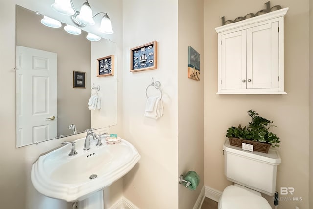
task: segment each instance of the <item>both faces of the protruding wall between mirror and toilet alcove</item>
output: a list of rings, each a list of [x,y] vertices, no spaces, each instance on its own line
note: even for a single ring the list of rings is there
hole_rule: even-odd
[[[145,1],[123,1],[124,137],[141,154],[124,178],[124,196],[142,209],[190,209],[204,184],[204,79],[187,78],[187,57],[188,46],[203,55],[203,1],[161,0],[149,6],[149,16],[138,18],[134,11],[146,11]],[[158,42],[157,70],[129,72],[129,49],[153,40]],[[157,121],[143,116],[152,77],[163,90],[165,114]],[[200,175],[196,191],[178,184],[179,175],[189,170]]]

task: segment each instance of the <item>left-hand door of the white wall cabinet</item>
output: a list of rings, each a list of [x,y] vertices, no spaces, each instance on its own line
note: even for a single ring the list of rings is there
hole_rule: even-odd
[[[246,89],[246,30],[221,35],[221,89]]]

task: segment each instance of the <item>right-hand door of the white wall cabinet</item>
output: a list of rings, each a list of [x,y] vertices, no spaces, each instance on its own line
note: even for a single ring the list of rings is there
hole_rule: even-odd
[[[279,88],[278,22],[247,29],[247,88]]]

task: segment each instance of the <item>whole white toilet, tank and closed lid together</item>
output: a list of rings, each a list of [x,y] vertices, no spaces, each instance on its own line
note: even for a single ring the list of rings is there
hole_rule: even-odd
[[[224,189],[218,209],[272,209],[261,193],[275,194],[277,165],[281,163],[278,152],[244,151],[231,146],[228,139],[223,149],[225,175],[234,185]]]

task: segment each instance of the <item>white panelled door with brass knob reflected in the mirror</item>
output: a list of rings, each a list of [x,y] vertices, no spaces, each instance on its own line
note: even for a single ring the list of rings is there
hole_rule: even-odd
[[[23,146],[57,136],[57,54],[17,46],[17,137]]]

